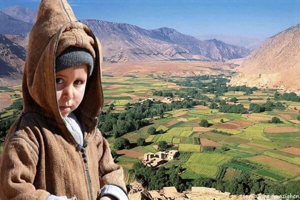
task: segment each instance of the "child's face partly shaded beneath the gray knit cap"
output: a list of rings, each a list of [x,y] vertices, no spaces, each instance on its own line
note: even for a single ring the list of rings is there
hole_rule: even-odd
[[[87,65],[66,68],[55,73],[56,96],[61,117],[78,107],[84,96]]]

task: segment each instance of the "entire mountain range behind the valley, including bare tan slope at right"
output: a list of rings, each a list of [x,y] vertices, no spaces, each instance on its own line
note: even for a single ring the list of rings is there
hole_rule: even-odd
[[[0,77],[21,76],[28,34],[35,16],[36,10],[21,6],[0,11]],[[200,40],[168,27],[147,30],[128,23],[95,19],[80,21],[100,39],[106,61],[233,61],[245,57],[243,61],[237,59],[241,62],[239,73],[230,84],[300,88],[299,24],[267,38],[251,52],[250,48],[218,39]],[[233,41],[226,38],[226,41]],[[247,43],[251,49],[257,45],[255,40],[238,42],[235,39],[234,43]]]

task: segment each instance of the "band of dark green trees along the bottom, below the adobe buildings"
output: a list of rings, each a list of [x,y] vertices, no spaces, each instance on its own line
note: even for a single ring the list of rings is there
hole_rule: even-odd
[[[227,191],[236,195],[251,193],[269,195],[298,194],[298,191],[300,191],[300,180],[289,181],[286,184],[273,184],[266,182],[263,178],[253,177],[245,171],[231,180],[208,177],[185,180],[178,175],[183,170],[181,166],[154,169],[143,165],[141,162],[136,162],[129,171],[134,172],[135,176],[141,179],[144,186],[149,190],[162,189],[165,186],[175,186],[178,191],[182,191],[190,189],[191,186],[204,186],[213,187],[217,190]]]

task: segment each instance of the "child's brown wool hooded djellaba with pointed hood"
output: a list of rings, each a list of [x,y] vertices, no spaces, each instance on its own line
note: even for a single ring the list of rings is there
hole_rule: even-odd
[[[68,46],[88,49],[94,70],[73,111],[83,129],[78,146],[59,114],[55,57]],[[0,199],[46,199],[50,194],[96,199],[105,184],[125,191],[123,170],[96,128],[103,105],[101,46],[76,21],[66,0],[41,0],[29,36],[22,82],[23,110],[5,138],[0,162]]]

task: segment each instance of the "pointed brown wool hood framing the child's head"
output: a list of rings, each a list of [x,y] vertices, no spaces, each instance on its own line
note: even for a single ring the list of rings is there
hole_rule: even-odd
[[[67,0],[40,2],[36,22],[29,35],[23,72],[23,112],[39,112],[63,124],[55,92],[55,58],[69,46],[85,48],[94,58],[94,70],[88,79],[83,100],[74,110],[88,132],[95,128],[103,106],[102,49],[91,30],[76,21]]]

